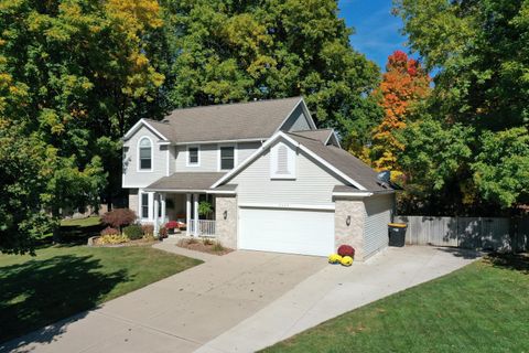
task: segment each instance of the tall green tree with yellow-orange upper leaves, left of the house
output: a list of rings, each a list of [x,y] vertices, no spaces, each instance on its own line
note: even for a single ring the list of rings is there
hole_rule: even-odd
[[[44,174],[32,210],[51,210],[56,221],[65,207],[98,204],[106,185],[107,196],[120,190],[119,138],[141,114],[158,111],[150,101],[163,75],[147,41],[162,24],[155,0],[0,0],[4,141],[12,133],[37,141],[43,153],[34,158],[53,167],[33,162],[35,175]],[[0,152],[12,161],[10,147]],[[0,169],[10,174],[19,162]],[[2,179],[2,189],[8,184]]]

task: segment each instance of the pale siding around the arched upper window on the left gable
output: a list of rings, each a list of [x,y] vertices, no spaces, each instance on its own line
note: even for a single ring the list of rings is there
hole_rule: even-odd
[[[152,141],[152,169],[142,171],[139,169],[139,141],[149,137]],[[168,173],[168,146],[158,143],[160,138],[149,128],[141,127],[123,143],[123,188],[145,188]]]

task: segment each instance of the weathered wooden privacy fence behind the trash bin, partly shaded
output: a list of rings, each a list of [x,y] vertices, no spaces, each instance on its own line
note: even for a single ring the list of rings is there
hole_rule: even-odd
[[[396,216],[408,224],[406,243],[467,249],[529,249],[529,218]]]

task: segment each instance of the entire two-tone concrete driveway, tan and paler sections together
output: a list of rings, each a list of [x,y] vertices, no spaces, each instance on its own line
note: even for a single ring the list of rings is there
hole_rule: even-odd
[[[349,268],[327,265],[321,257],[257,252],[203,258],[203,265],[9,342],[0,351],[253,352],[449,274],[476,255],[388,248]]]

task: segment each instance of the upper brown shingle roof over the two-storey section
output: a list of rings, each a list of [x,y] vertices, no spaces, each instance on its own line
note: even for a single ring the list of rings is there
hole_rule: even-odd
[[[149,120],[173,142],[223,141],[271,137],[301,97],[225,104],[173,110]]]

